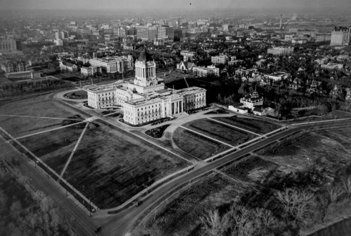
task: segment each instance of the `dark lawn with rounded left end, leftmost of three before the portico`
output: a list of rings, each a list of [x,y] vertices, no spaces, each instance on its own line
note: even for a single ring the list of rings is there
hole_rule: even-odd
[[[192,136],[193,135],[193,136]],[[201,137],[198,134],[192,134],[190,131],[178,128],[173,133],[173,141],[176,143],[178,148],[189,153],[196,158],[205,160],[206,158],[224,151],[225,148],[229,148],[224,144],[220,144],[206,137]]]

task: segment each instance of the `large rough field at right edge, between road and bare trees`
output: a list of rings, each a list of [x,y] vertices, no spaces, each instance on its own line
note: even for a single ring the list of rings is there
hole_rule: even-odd
[[[351,164],[351,128],[302,132],[258,154],[288,167],[318,165],[329,174]]]

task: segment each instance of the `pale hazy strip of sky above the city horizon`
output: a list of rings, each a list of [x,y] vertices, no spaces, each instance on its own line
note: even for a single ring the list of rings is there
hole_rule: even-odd
[[[350,8],[351,0],[0,0],[0,9]]]

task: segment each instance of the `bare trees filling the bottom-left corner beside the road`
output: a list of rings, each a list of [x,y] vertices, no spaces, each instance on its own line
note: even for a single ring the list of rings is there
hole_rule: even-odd
[[[69,235],[74,218],[18,170],[11,176],[0,162],[0,235]]]

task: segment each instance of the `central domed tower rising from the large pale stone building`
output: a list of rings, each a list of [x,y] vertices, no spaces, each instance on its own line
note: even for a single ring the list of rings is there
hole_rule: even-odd
[[[150,53],[147,53],[146,48],[140,53],[140,56],[135,61],[135,79],[134,84],[149,87],[157,85],[156,78],[156,63],[152,59]]]

